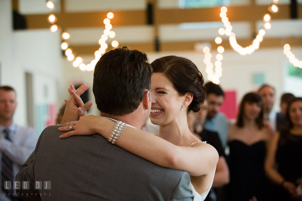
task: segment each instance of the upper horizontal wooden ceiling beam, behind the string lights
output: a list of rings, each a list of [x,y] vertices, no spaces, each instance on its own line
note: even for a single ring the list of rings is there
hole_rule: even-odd
[[[273,20],[290,19],[290,5],[278,5],[279,12],[271,14]],[[57,13],[58,25],[61,28],[103,27],[103,20],[109,11]],[[114,18],[113,26],[146,25],[147,14],[145,10],[111,11]],[[228,7],[227,17],[229,21],[257,21],[262,20],[268,13],[267,5],[249,5]],[[180,24],[185,22],[211,22],[221,21],[220,7],[193,8],[193,9],[157,9],[155,21],[161,24]],[[28,29],[49,28],[48,14],[25,15]],[[302,18],[302,4],[298,4],[298,18]]]

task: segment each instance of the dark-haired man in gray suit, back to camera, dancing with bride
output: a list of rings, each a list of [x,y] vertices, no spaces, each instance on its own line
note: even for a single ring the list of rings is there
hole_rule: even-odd
[[[145,53],[125,47],[105,53],[93,78],[101,115],[141,129],[150,114],[151,74]],[[60,139],[58,128],[42,132],[16,176],[21,185],[29,181],[28,190],[17,190],[23,200],[193,200],[187,172],[155,165],[99,134]]]

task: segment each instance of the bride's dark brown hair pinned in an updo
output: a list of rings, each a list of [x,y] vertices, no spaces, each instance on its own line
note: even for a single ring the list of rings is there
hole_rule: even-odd
[[[180,96],[187,92],[193,94],[188,112],[198,112],[204,103],[204,78],[196,65],[189,59],[177,56],[166,56],[151,63],[153,73],[163,73],[174,85]]]

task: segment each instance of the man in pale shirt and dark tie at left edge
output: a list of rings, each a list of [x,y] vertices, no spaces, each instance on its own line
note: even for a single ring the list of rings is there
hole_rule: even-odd
[[[38,134],[33,128],[13,123],[16,107],[15,90],[9,86],[0,87],[0,200],[18,199],[15,190],[3,189],[4,181],[15,181],[20,166],[35,150],[38,141]]]

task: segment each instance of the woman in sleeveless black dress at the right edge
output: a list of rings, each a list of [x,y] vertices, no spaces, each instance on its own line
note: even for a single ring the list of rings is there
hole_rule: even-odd
[[[302,180],[302,98],[294,98],[288,104],[285,126],[270,143],[265,170],[276,185],[272,200],[301,200],[297,186]]]

